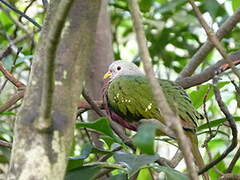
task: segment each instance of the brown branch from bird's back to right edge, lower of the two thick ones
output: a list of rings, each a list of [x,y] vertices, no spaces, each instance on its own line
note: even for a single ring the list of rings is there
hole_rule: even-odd
[[[235,65],[238,65],[240,63],[240,51],[229,54],[229,57]],[[229,69],[228,64],[226,64],[226,62],[221,59],[216,64],[209,66],[199,74],[193,75],[191,77],[178,78],[176,80],[176,83],[185,89],[190,88],[212,79],[216,75],[216,72],[220,74],[227,69]]]

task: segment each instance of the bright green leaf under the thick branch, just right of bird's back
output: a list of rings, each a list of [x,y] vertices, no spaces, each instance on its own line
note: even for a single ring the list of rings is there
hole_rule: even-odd
[[[224,81],[224,82],[220,82],[217,84],[217,87],[219,89],[221,89],[222,87],[224,87],[226,84],[229,84],[228,81]],[[199,88],[195,91],[192,91],[189,94],[189,97],[192,100],[192,103],[194,105],[194,107],[199,108],[202,104],[203,104],[203,99],[204,96],[206,95],[208,88],[211,86],[211,84],[204,84],[204,85],[200,85],[198,86]],[[208,96],[206,101],[208,101],[209,99],[211,99],[211,97],[214,95],[213,89],[211,88],[208,92]]]

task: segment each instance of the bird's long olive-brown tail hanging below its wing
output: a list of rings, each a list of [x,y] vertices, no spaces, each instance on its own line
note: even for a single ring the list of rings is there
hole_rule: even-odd
[[[193,153],[195,163],[196,163],[196,165],[198,166],[199,169],[202,169],[204,167],[204,161],[203,161],[202,155],[201,155],[201,153],[198,149],[197,135],[192,131],[185,131],[185,134],[190,139],[191,150],[192,150],[192,153]],[[203,173],[203,178],[205,180],[209,180],[209,176],[208,176],[207,172]]]

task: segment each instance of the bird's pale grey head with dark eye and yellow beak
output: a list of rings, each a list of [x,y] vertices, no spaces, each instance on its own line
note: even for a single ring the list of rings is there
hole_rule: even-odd
[[[144,75],[140,69],[132,62],[125,60],[114,61],[110,64],[108,72],[104,75],[104,79],[109,78],[110,81],[119,76],[124,75]]]

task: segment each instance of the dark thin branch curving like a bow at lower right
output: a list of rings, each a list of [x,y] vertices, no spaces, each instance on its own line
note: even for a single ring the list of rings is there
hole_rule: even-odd
[[[237,127],[236,127],[236,124],[235,124],[235,121],[234,121],[232,115],[228,111],[227,106],[222,101],[222,97],[220,95],[219,89],[216,87],[216,83],[217,83],[217,78],[214,78],[213,79],[213,88],[214,88],[215,98],[216,98],[216,101],[218,103],[219,108],[221,109],[221,111],[223,112],[227,121],[230,124],[231,130],[232,130],[232,141],[231,141],[230,146],[222,153],[221,156],[219,156],[217,159],[213,160],[211,163],[209,163],[204,168],[202,168],[198,172],[198,174],[202,174],[202,173],[206,172],[208,169],[212,168],[214,165],[219,163],[237,146],[237,134],[238,134],[237,133]]]

